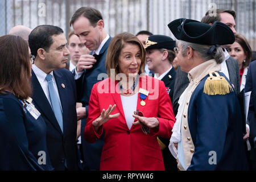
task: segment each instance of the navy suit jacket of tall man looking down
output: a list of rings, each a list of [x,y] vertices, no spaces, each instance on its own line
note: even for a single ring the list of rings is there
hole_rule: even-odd
[[[111,37],[107,40],[104,46],[101,48],[99,55],[94,55],[97,62],[93,65],[91,69],[84,71],[83,75],[76,80],[77,86],[77,97],[78,101],[81,102],[83,107],[86,107],[86,117],[88,116],[88,105],[90,100],[90,93],[92,91],[93,85],[96,84],[98,75],[101,73],[106,73],[106,53],[108,52],[108,47],[111,41]],[[92,55],[93,51],[90,52]],[[84,128],[86,125],[86,118],[82,119],[81,122],[81,134],[84,133]],[[82,167],[85,170],[99,170],[100,169],[100,158],[101,151],[104,144],[103,140],[104,135],[96,143],[88,143],[83,137],[81,137],[81,146],[82,146]]]

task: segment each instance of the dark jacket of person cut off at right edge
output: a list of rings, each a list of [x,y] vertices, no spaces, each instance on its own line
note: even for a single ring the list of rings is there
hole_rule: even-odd
[[[251,62],[246,76],[245,92],[251,91],[247,123],[250,126],[250,159],[256,162],[256,61]]]

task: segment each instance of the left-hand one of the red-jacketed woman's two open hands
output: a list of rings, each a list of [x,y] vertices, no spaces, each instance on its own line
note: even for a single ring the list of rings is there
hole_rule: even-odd
[[[119,113],[110,115],[113,112],[113,110],[115,109],[115,107],[116,107],[115,104],[113,106],[109,105],[109,108],[106,111],[105,111],[105,109],[103,109],[101,112],[101,115],[92,122],[96,133],[98,133],[98,129],[101,127],[101,125],[103,125],[105,122],[109,121],[109,119],[115,119],[115,118],[119,117],[119,115],[120,115]]]

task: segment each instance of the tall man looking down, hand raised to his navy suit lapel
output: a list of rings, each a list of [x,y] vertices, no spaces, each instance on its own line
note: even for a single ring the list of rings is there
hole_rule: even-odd
[[[104,20],[100,11],[81,7],[73,15],[70,25],[79,36],[82,44],[90,51],[90,55],[81,55],[75,69],[78,102],[85,107],[86,117],[90,93],[93,85],[101,81],[101,73],[106,73],[106,53],[110,43],[110,36],[104,31]],[[81,134],[84,133],[86,118],[82,119]],[[99,170],[101,151],[104,144],[103,135],[96,143],[88,143],[81,138],[82,160],[85,170]]]

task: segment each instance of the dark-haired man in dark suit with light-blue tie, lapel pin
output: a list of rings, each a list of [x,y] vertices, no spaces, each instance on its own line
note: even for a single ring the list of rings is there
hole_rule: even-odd
[[[32,66],[32,98],[47,125],[47,148],[55,170],[78,170],[76,85],[65,68],[69,51],[61,28],[38,26],[28,39]]]

